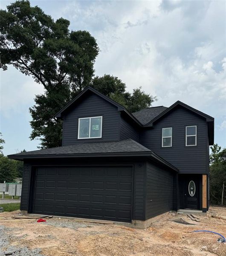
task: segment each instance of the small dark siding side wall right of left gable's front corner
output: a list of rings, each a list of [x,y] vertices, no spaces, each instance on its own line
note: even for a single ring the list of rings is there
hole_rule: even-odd
[[[138,131],[123,116],[120,119],[120,140],[133,139],[138,141]]]

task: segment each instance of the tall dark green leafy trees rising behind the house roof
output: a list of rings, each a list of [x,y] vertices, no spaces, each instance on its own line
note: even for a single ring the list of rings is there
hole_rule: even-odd
[[[30,138],[40,139],[41,148],[61,146],[62,121],[55,119],[55,113],[87,85],[131,112],[147,108],[156,100],[140,87],[128,93],[117,77],[92,79],[99,52],[96,40],[87,31],[69,31],[68,20],[54,21],[38,6],[30,6],[28,0],[12,3],[7,11],[0,10],[0,16],[0,67],[7,70],[13,65],[45,88],[29,109]]]

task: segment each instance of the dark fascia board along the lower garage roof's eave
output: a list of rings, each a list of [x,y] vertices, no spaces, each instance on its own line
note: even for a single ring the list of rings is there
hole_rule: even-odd
[[[26,160],[26,159],[46,159],[46,158],[84,158],[84,157],[148,157],[157,162],[162,163],[163,165],[169,167],[170,169],[178,172],[179,170],[164,160],[162,157],[159,157],[153,151],[143,151],[143,152],[115,152],[115,153],[94,153],[94,154],[43,154],[43,155],[18,155],[18,154],[11,154],[8,155],[10,159],[14,160]]]

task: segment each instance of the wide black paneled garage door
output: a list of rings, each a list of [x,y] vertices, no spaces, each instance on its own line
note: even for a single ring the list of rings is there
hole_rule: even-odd
[[[131,221],[132,167],[39,167],[32,212]]]

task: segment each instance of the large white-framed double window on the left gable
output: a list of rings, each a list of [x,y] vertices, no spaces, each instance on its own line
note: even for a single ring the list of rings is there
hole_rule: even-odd
[[[78,139],[102,137],[102,116],[78,118]]]

